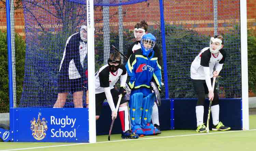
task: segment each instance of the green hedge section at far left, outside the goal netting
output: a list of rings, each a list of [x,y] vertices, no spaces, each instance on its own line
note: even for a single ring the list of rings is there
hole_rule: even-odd
[[[0,31],[0,113],[9,112],[8,51],[6,37],[6,32]],[[23,89],[25,49],[25,41],[21,36],[15,34],[17,104],[19,103]]]

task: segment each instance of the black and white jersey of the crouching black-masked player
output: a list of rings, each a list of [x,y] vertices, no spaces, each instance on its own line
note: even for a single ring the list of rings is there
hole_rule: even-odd
[[[125,84],[127,79],[127,71],[123,65],[121,65],[114,73],[110,72],[109,65],[102,66],[95,73],[95,94],[104,92],[104,87],[110,87],[110,89],[113,89],[118,79],[122,79],[121,77],[123,75],[126,75],[126,78],[124,81],[121,81],[121,83]]]

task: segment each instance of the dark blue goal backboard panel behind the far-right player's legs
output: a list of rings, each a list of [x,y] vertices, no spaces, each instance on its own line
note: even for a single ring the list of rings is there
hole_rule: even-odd
[[[174,119],[176,130],[195,130],[196,129],[196,104],[197,99],[174,99]],[[204,103],[204,118],[207,121],[209,100]],[[241,130],[241,98],[219,99],[219,121],[231,130]],[[210,118],[210,130],[212,128],[212,115]]]

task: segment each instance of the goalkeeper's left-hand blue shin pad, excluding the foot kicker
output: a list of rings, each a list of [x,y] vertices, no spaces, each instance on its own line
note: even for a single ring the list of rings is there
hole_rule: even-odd
[[[131,127],[141,124],[142,103],[143,93],[134,93],[133,95],[131,95],[129,101]]]

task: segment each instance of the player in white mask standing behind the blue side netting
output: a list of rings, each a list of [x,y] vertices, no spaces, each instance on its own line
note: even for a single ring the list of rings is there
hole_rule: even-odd
[[[74,107],[83,107],[84,59],[87,54],[87,27],[71,35],[63,52],[58,75],[59,93],[54,107],[63,107],[68,93],[73,94]]]

